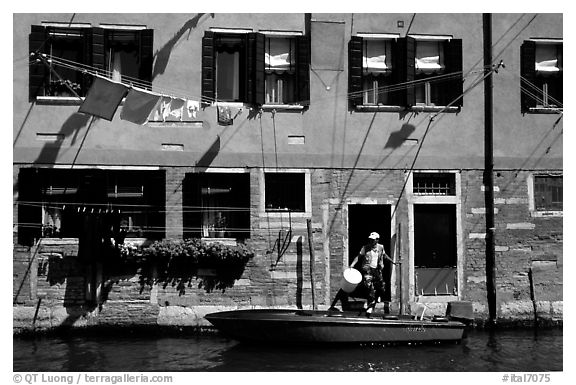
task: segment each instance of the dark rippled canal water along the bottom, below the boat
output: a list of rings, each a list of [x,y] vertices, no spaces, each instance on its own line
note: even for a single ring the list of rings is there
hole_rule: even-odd
[[[547,372],[562,371],[562,329],[472,330],[459,344],[346,347],[245,345],[199,336],[13,339],[16,372]]]

